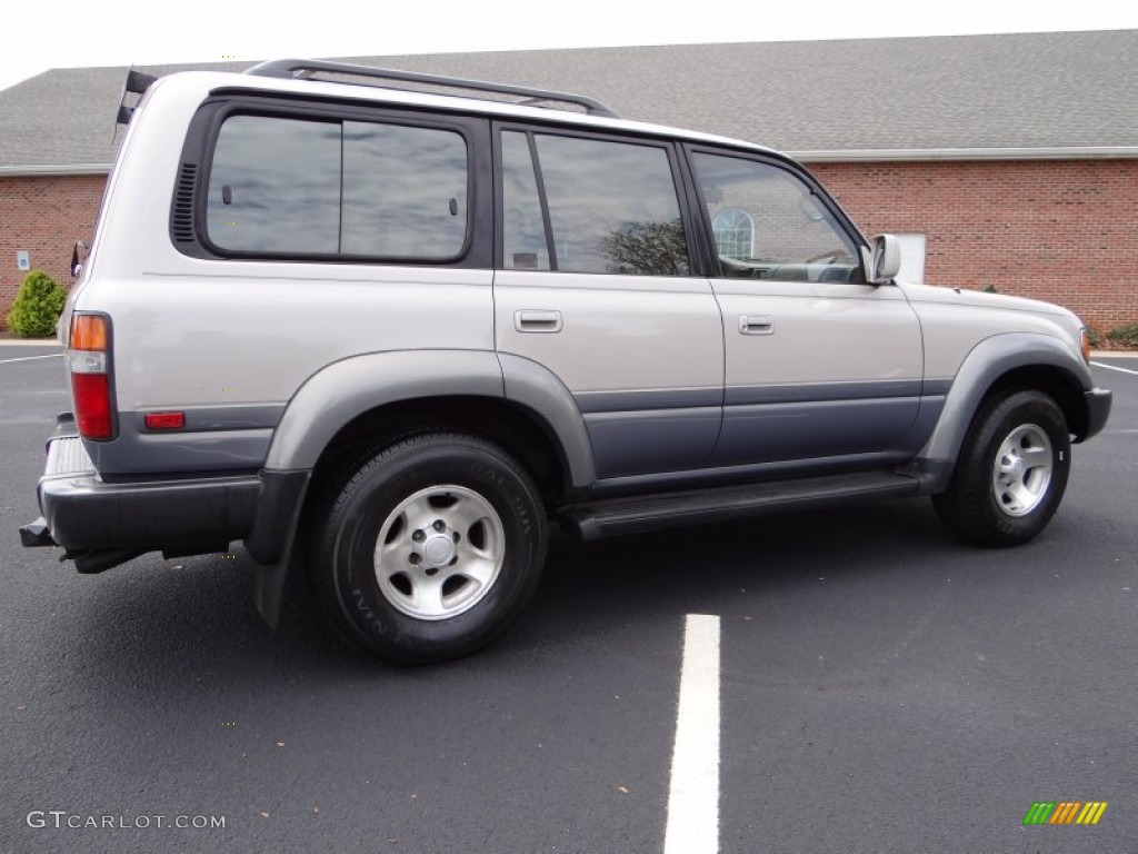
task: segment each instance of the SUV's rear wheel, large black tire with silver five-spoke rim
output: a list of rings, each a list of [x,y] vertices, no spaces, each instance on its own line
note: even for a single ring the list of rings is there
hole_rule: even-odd
[[[473,652],[537,588],[545,558],[537,490],[485,440],[402,438],[325,503],[310,559],[321,605],[346,639],[384,660],[430,664]]]

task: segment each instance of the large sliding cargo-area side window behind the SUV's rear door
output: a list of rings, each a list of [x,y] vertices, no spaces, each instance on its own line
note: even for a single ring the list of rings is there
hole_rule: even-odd
[[[453,130],[232,115],[206,232],[222,254],[450,261],[468,241],[469,183]]]

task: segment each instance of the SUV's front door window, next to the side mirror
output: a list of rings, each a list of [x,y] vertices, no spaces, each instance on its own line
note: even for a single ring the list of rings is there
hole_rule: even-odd
[[[782,281],[861,281],[858,253],[810,187],[780,166],[696,153],[719,274]]]

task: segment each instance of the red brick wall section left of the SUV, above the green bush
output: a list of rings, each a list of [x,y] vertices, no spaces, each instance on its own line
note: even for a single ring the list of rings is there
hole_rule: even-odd
[[[90,243],[102,200],[105,175],[0,178],[0,322],[26,273],[16,253],[26,249],[33,270],[71,286],[71,253]]]

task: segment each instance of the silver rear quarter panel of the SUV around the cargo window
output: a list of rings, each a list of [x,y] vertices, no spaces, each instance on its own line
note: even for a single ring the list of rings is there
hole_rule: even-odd
[[[308,377],[352,355],[494,350],[488,270],[181,254],[170,237],[179,153],[212,80],[175,75],[152,88],[124,140],[90,265],[72,303],[75,310],[105,312],[113,323],[121,430],[115,442],[89,443],[100,471],[130,469],[132,454],[124,443],[154,442],[130,429],[146,411],[200,408],[216,414],[253,408],[263,413],[283,408]],[[184,457],[173,469],[257,462],[248,442],[228,458],[224,442],[213,442],[216,453],[209,450],[209,437],[200,437],[200,453],[191,459],[185,451],[193,438],[181,434],[171,442],[165,455]],[[267,450],[267,436],[254,445]],[[162,470],[163,457],[133,454],[133,470]]]

